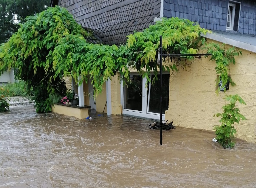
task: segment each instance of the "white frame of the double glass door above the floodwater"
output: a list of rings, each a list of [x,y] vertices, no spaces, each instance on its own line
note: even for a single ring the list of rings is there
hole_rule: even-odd
[[[130,72],[130,74],[138,75],[138,73],[136,72]],[[170,74],[170,72],[163,72],[163,74]],[[150,80],[151,78],[152,78],[152,74],[150,75]],[[138,111],[138,110],[130,110],[130,109],[124,108],[124,86],[123,86],[123,81],[121,81],[121,104],[122,104],[123,114],[130,115],[130,116],[150,118],[150,119],[160,118],[160,113],[148,112],[151,82],[148,83],[150,84],[148,91],[146,87],[146,82],[147,82],[147,78],[142,78],[142,111]],[[147,92],[148,92],[148,99],[147,99]],[[165,114],[162,114],[162,120],[165,120]]]

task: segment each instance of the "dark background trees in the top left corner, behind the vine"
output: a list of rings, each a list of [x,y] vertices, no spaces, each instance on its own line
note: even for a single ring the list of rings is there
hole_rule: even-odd
[[[15,33],[19,23],[27,16],[46,9],[50,0],[0,0],[0,44],[6,42]]]

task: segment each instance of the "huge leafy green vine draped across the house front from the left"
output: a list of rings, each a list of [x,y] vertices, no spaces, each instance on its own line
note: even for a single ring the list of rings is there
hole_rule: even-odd
[[[200,33],[209,32],[197,23],[179,18],[162,18],[143,32],[128,36],[126,45],[90,44],[92,32],[76,23],[68,11],[59,6],[27,17],[25,23],[7,43],[0,46],[0,74],[11,68],[17,78],[33,88],[37,112],[51,112],[54,101],[65,96],[63,76],[72,76],[78,84],[92,79],[94,95],[101,92],[106,80],[119,72],[129,82],[128,65],[153,83],[159,65],[159,37],[163,37],[163,52],[169,54],[197,53],[205,43]],[[163,70],[178,71],[193,56],[176,58],[174,64],[165,64]],[[172,60],[172,59],[171,59]],[[135,63],[134,63],[135,62]],[[224,79],[224,77],[223,77]]]

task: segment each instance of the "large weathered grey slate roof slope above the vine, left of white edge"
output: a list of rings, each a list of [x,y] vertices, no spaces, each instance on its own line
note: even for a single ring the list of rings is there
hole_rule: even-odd
[[[126,43],[127,35],[160,17],[160,0],[61,0],[59,5],[109,45]]]

